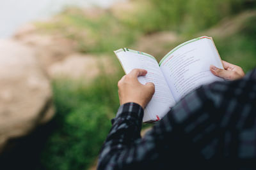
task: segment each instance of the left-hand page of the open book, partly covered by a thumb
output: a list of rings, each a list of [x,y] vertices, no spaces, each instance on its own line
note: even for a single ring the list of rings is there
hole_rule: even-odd
[[[175,104],[175,100],[163,73],[161,73],[157,60],[147,53],[136,52],[127,48],[124,50],[117,50],[115,53],[125,73],[128,74],[136,68],[146,69],[148,71],[147,75],[138,77],[138,80],[142,84],[152,82],[155,85],[155,93],[145,108],[143,122],[161,119]]]

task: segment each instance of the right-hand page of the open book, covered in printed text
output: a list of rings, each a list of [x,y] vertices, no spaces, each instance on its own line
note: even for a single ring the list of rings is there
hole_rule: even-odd
[[[223,69],[212,39],[206,36],[177,46],[159,63],[175,101],[200,85],[222,80],[211,73],[211,64]]]

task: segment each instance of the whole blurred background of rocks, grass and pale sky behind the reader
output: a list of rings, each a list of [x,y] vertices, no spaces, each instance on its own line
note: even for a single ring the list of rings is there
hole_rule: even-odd
[[[255,0],[0,4],[1,169],[95,169],[124,74],[113,50],[161,60],[212,36],[223,60],[256,66]]]

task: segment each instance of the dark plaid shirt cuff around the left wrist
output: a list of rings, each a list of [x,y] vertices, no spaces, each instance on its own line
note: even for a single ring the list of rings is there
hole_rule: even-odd
[[[144,115],[144,110],[140,106],[140,104],[137,103],[125,103],[118,109],[116,113],[116,117],[112,120],[112,123],[116,118],[122,117],[122,118],[136,118],[139,120],[139,122],[142,122]]]

